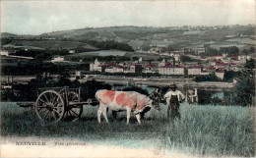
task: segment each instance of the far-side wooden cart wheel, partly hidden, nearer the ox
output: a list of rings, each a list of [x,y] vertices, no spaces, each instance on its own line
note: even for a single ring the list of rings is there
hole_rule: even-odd
[[[72,102],[79,102],[79,94],[75,91],[68,92],[68,100]],[[64,114],[65,121],[76,121],[83,113],[83,105],[67,105]]]

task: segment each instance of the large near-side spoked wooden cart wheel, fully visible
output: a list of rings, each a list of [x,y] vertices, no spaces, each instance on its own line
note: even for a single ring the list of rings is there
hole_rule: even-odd
[[[57,91],[46,90],[37,97],[35,112],[44,123],[57,123],[64,116],[65,102]]]

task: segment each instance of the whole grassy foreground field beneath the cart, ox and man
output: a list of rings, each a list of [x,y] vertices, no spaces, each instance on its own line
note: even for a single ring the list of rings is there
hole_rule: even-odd
[[[39,124],[30,109],[15,103],[1,103],[1,135],[68,137],[94,144],[116,145],[127,148],[161,148],[196,155],[254,156],[255,110],[246,107],[198,106],[181,104],[181,120],[166,121],[166,106],[151,110],[142,125],[134,117],[126,125],[125,113],[110,124],[96,122],[96,107],[85,106],[77,122],[57,125]]]

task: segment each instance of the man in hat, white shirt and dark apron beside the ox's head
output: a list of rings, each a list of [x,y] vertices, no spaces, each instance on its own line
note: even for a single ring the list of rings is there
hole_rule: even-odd
[[[177,86],[175,83],[170,84],[170,90],[163,95],[163,100],[166,99],[168,105],[167,118],[171,122],[175,118],[180,119],[179,114],[179,102],[185,99],[185,96],[179,90],[176,90]]]

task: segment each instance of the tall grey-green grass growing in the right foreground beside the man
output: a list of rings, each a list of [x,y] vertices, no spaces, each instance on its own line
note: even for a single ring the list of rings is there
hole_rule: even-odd
[[[247,107],[181,106],[166,128],[166,147],[198,155],[255,156],[253,111]]]

